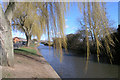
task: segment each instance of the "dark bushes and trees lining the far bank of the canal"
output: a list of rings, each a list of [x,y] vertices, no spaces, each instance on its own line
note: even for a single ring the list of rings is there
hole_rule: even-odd
[[[118,25],[118,29],[115,30],[114,28],[109,28],[111,33],[109,34],[114,41],[114,45],[110,45],[110,53],[112,54],[112,60],[111,56],[108,55],[109,53],[106,50],[106,44],[105,44],[105,39],[107,38],[108,35],[106,35],[105,38],[100,37],[99,41],[101,43],[100,47],[100,62],[106,62],[106,63],[112,63],[112,64],[117,64],[120,65],[120,25]],[[112,32],[113,31],[113,32]],[[89,33],[90,36],[90,33]],[[67,49],[68,50],[73,50],[79,52],[79,54],[84,54],[86,56],[87,53],[87,40],[86,40],[86,35],[85,35],[85,30],[77,30],[76,33],[74,34],[68,34],[66,35],[67,38]],[[55,41],[57,41],[59,38],[53,39],[54,44]],[[93,38],[94,39],[94,38]],[[95,40],[92,40],[92,38],[89,38],[89,46],[90,46],[90,55],[96,55],[97,54],[97,46]],[[64,48],[64,47],[63,47]],[[97,55],[96,55],[97,57]],[[111,61],[110,61],[111,60]]]

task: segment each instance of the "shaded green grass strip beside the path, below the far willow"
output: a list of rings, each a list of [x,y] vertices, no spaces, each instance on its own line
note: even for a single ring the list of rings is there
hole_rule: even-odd
[[[37,51],[35,49],[29,48],[14,49],[14,53],[21,53],[25,55],[37,55]]]

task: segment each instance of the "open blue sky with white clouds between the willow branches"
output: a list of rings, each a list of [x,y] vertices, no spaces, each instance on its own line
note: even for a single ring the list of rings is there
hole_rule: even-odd
[[[106,7],[107,7],[107,13],[108,13],[109,19],[115,22],[113,27],[117,29],[118,2],[108,2],[106,4]],[[70,6],[70,11],[65,16],[65,21],[66,21],[65,34],[75,33],[77,29],[80,28],[77,20],[78,18],[80,19],[82,18],[80,11],[78,9],[78,6],[76,4],[73,6]],[[18,36],[18,37],[25,38],[25,35],[23,33],[20,33],[19,31],[17,32],[13,31],[12,34],[13,34],[13,37]],[[46,39],[46,37],[43,35],[41,39],[44,40]]]

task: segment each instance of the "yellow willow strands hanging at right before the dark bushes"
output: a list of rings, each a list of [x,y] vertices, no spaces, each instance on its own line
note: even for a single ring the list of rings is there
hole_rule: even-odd
[[[109,21],[106,14],[105,4],[106,3],[103,2],[83,2],[79,4],[80,10],[84,16],[82,24],[86,28],[87,61],[90,55],[88,32],[90,32],[92,40],[95,41],[98,62],[100,48],[103,48],[103,45],[100,42],[101,38],[104,38],[105,40],[105,49],[109,56],[110,62],[112,63],[113,60],[110,46],[114,45],[114,41],[112,40],[109,32]]]

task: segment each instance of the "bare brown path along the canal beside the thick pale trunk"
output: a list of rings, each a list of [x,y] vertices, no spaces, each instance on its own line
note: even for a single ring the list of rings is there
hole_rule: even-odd
[[[15,54],[14,68],[2,70],[6,78],[60,78],[42,56]]]

